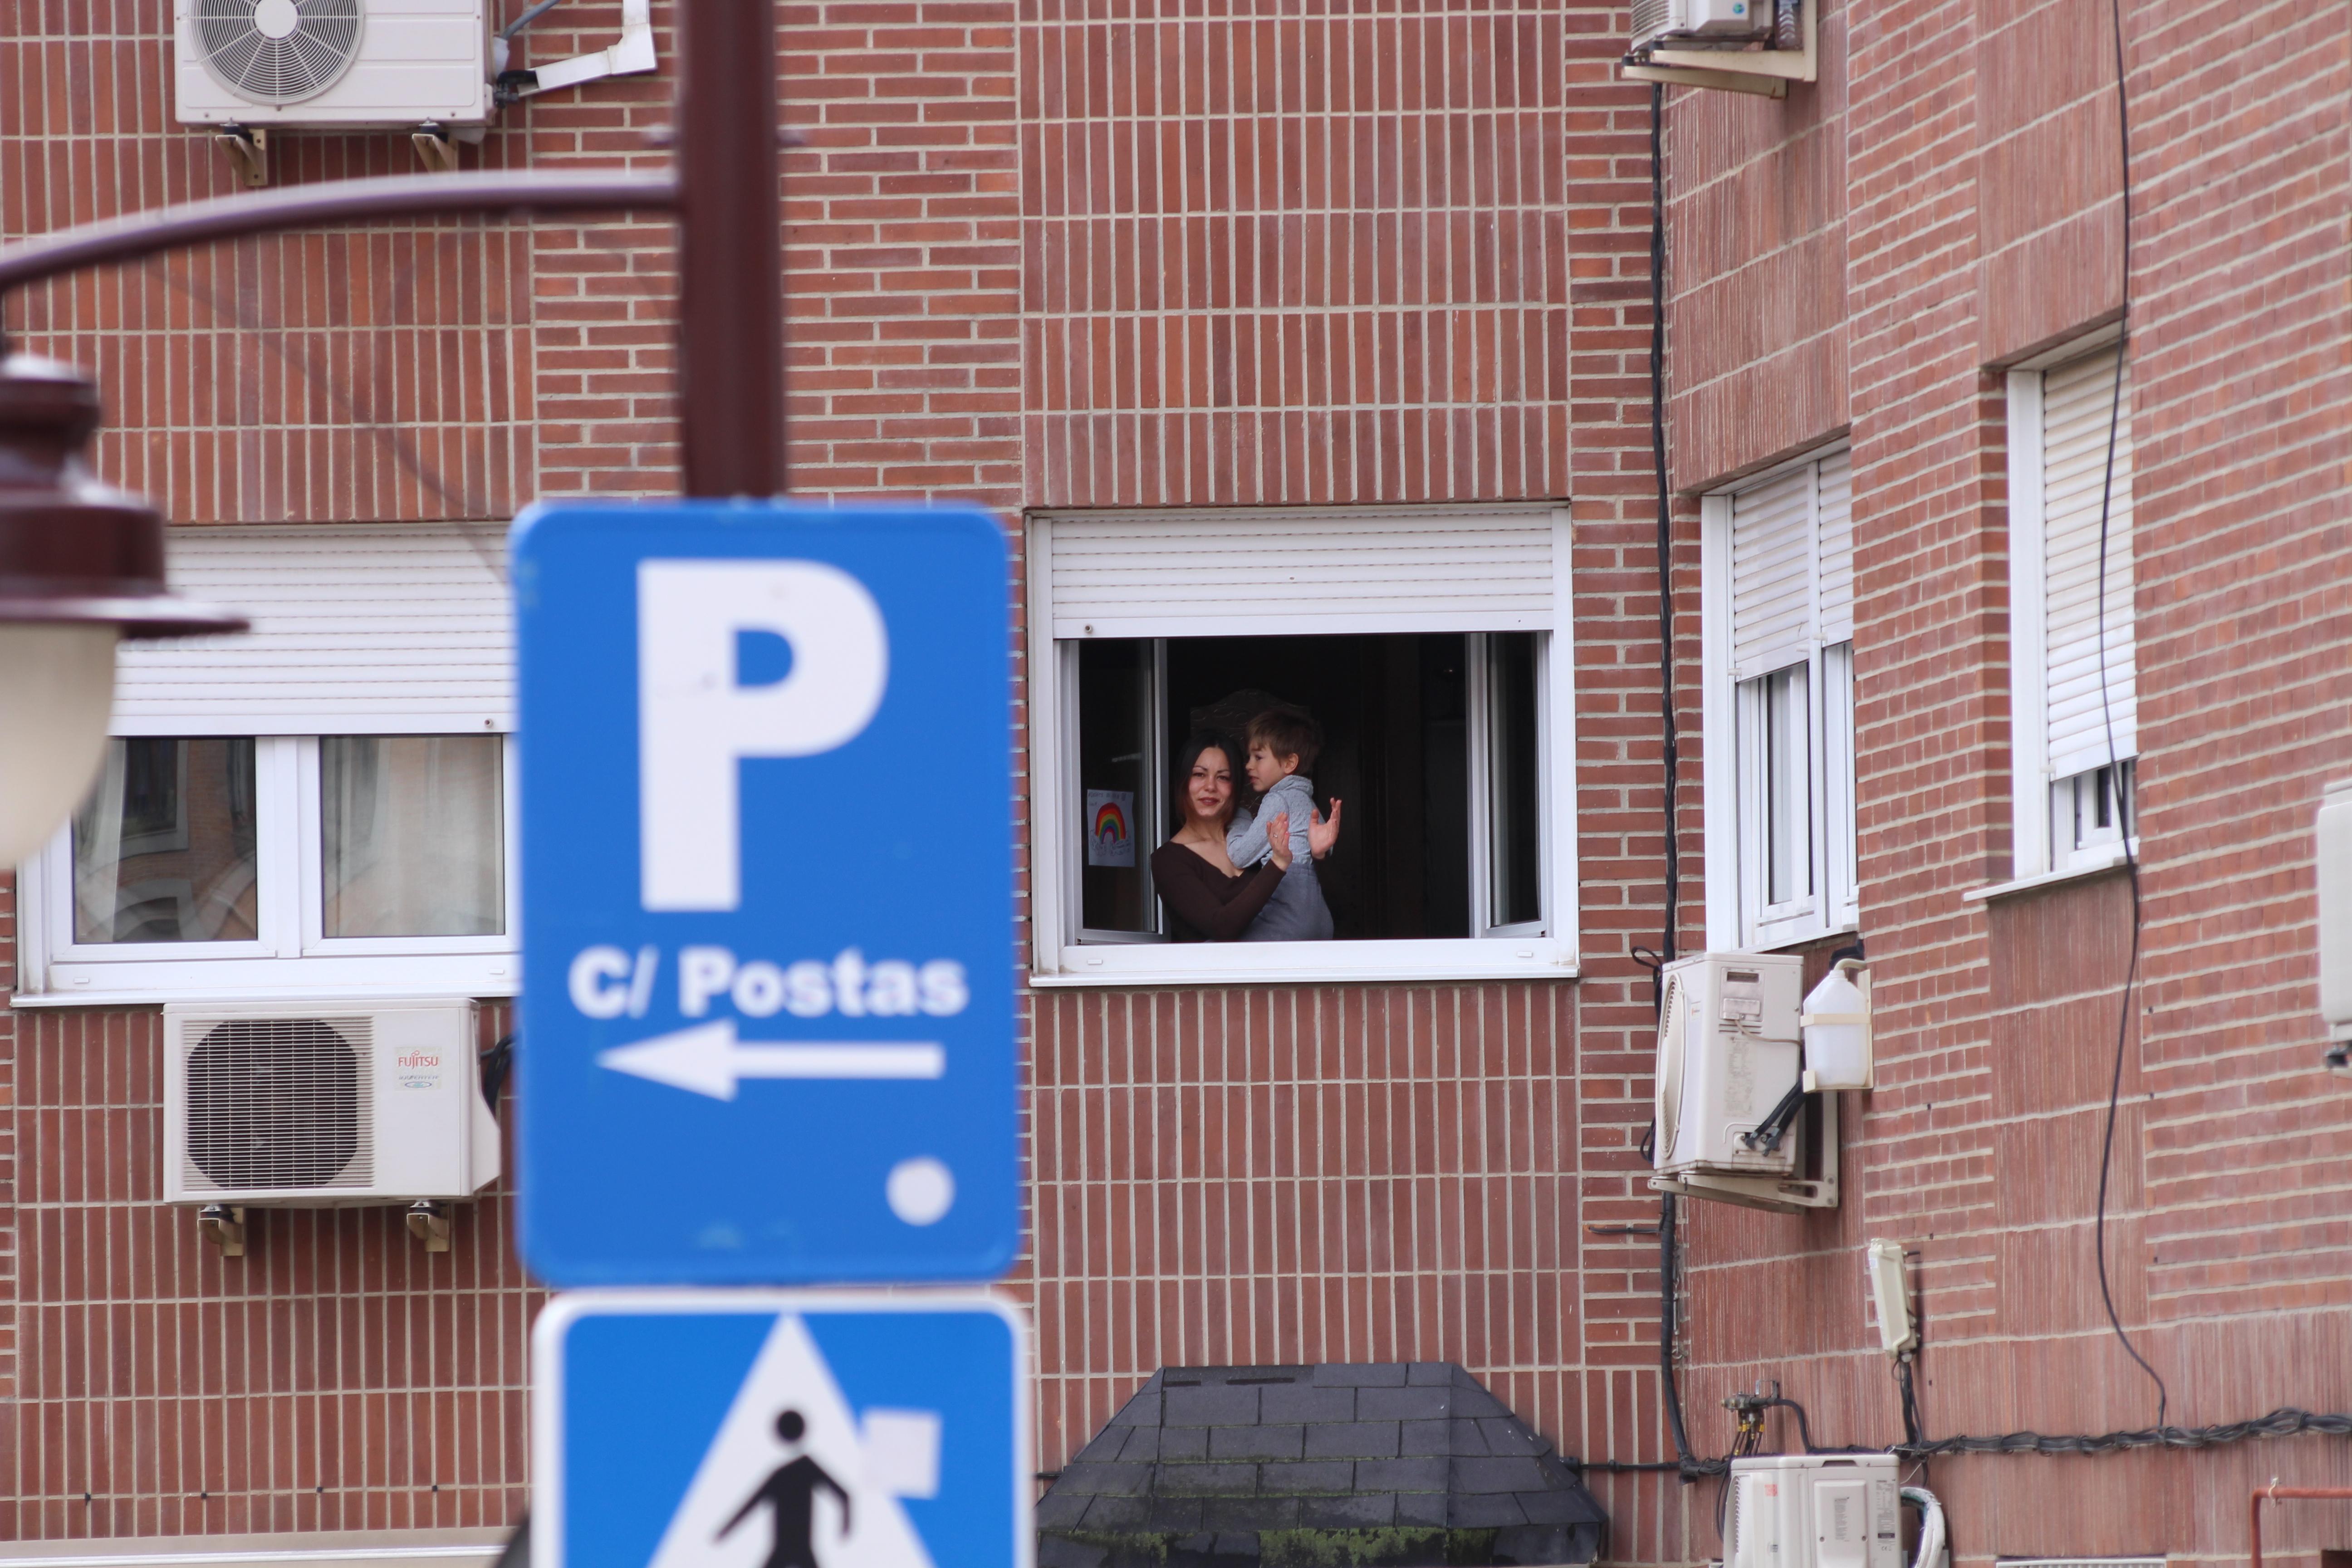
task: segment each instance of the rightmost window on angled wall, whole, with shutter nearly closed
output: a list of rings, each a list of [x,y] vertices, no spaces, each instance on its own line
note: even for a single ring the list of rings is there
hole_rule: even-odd
[[[2117,348],[2011,371],[2009,545],[2016,875],[2112,865],[2138,755],[2131,374]]]

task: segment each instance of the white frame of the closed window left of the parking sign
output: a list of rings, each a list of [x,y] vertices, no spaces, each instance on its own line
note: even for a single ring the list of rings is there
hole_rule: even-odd
[[[176,731],[174,731],[176,733]],[[111,1006],[221,999],[513,997],[520,990],[515,741],[501,733],[499,827],[506,931],[499,936],[327,938],[320,846],[320,736],[386,731],[381,717],[318,736],[254,736],[256,936],[247,943],[73,940],[73,825],[16,870],[16,1006]],[[209,738],[191,731],[188,738]]]

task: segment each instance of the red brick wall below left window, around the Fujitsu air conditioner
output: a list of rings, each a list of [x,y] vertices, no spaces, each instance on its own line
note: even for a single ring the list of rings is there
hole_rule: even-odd
[[[541,1295],[506,1185],[447,1253],[400,1208],[254,1208],[221,1258],[155,1201],[162,1018],[14,1018],[0,1537],[508,1523]],[[482,1044],[503,1027],[487,1009]]]

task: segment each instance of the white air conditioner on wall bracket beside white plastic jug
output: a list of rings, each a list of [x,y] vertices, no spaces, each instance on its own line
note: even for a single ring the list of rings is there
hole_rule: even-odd
[[[1804,1070],[1804,959],[1700,952],[1668,964],[1663,985],[1651,1164],[1661,1175],[1788,1175],[1797,1140],[1757,1128]]]

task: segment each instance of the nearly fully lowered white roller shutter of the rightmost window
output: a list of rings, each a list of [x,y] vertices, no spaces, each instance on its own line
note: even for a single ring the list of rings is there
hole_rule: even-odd
[[[2049,670],[2049,771],[2070,778],[2107,764],[2107,708],[2114,755],[2138,752],[2131,637],[2131,376],[2124,376],[2107,484],[2107,423],[2114,409],[2117,350],[2042,378],[2044,646]],[[2100,703],[2100,491],[2107,503],[2107,703]]]

